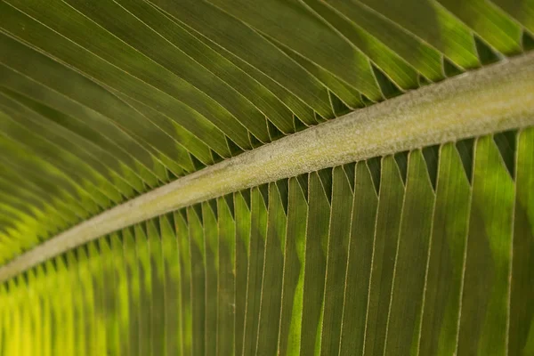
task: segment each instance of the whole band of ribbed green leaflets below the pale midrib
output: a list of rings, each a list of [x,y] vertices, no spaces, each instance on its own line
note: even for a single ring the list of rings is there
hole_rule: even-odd
[[[529,355],[533,133],[271,182],[77,247],[0,286],[0,354]]]

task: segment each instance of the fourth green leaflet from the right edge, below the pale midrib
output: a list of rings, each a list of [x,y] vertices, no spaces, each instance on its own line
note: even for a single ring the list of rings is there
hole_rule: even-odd
[[[409,154],[404,194],[384,352],[413,355],[421,333],[435,198],[421,150]]]

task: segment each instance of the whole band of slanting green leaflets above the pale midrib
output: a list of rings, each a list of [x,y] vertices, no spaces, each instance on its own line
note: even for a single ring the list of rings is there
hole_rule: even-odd
[[[522,53],[533,9],[531,0],[5,0],[0,263],[205,166]],[[215,230],[206,261],[221,254]],[[209,284],[215,267],[205,266]]]

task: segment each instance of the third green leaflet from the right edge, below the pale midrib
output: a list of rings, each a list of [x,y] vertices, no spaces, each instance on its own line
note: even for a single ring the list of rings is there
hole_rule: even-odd
[[[452,143],[441,147],[419,354],[456,352],[471,187]]]

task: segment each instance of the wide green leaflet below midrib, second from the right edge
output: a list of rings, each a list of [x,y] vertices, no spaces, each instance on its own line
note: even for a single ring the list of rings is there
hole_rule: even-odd
[[[465,312],[457,352],[506,354],[508,334],[503,326],[510,318],[514,181],[491,136],[477,140],[474,156],[462,297]]]

